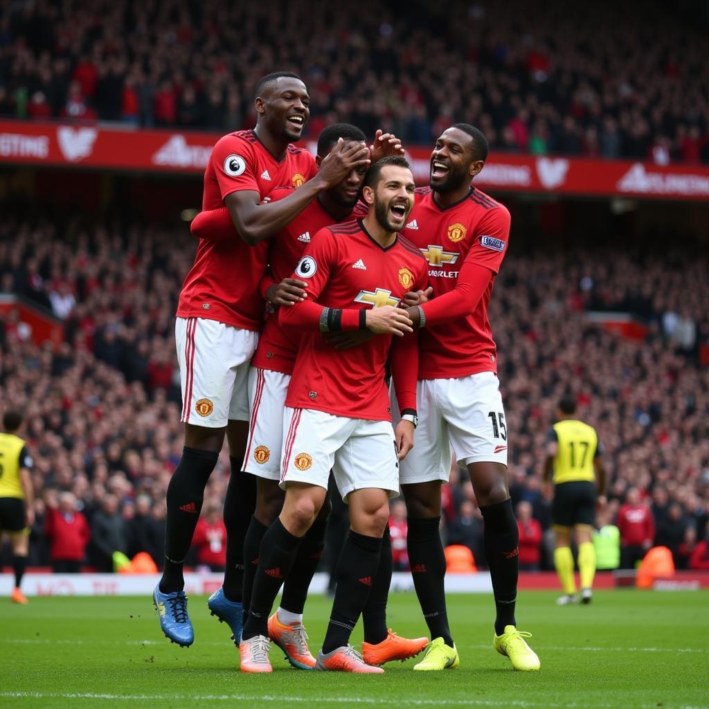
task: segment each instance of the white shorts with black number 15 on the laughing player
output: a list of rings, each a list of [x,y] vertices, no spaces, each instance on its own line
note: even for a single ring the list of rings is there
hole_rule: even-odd
[[[399,469],[401,484],[450,478],[451,446],[459,465],[507,465],[507,422],[494,372],[460,379],[422,379],[416,386],[418,428]],[[392,411],[398,406],[393,402]]]

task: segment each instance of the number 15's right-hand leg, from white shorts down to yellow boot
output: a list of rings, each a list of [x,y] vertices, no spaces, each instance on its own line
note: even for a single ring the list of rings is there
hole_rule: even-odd
[[[507,482],[508,431],[498,378],[481,372],[439,384],[437,396],[450,441],[459,464],[468,469],[485,523],[485,556],[496,608],[493,647],[510,658],[514,669],[539,669],[539,658],[515,622],[519,530]]]

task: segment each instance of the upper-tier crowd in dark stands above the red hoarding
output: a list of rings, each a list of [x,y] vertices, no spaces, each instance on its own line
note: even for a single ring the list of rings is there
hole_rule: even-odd
[[[430,144],[709,162],[707,18],[658,0],[81,0],[0,11],[0,116],[237,130],[291,70],[310,135],[350,121]]]

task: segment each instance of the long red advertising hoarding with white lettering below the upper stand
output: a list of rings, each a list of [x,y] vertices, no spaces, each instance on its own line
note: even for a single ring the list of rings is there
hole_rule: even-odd
[[[218,138],[218,133],[0,121],[0,162],[199,174]],[[411,147],[408,155],[416,181],[425,184],[430,149]],[[709,166],[491,152],[475,184],[493,191],[709,201]]]

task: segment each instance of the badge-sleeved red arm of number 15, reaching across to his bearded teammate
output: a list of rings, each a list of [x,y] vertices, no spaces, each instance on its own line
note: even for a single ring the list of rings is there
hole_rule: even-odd
[[[491,210],[476,230],[480,235],[465,257],[455,288],[428,303],[408,308],[415,327],[457,320],[469,316],[477,307],[502,263],[510,234],[510,213],[503,207]]]

